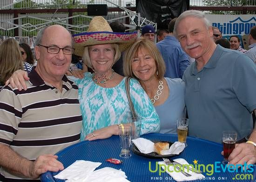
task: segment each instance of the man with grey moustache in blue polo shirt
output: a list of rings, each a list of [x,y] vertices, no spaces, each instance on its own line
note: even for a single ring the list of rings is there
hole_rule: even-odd
[[[229,156],[233,164],[256,163],[256,130],[251,112],[256,109],[256,64],[239,51],[216,45],[209,21],[200,11],[186,11],[176,20],[174,34],[182,49],[195,58],[184,72],[189,135],[222,143],[222,132],[236,131]]]

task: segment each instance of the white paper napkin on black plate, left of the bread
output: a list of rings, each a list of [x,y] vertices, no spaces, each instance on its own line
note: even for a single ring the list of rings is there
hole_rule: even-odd
[[[146,138],[132,140],[141,153],[148,154],[154,151],[154,143]]]

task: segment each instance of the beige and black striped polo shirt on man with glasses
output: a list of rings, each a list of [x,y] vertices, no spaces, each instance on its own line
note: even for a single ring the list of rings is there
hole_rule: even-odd
[[[35,160],[79,142],[82,116],[78,87],[66,76],[62,92],[44,82],[34,68],[28,76],[26,91],[9,86],[0,91],[0,143]],[[27,181],[0,168],[0,181],[8,181],[3,176],[12,182]]]

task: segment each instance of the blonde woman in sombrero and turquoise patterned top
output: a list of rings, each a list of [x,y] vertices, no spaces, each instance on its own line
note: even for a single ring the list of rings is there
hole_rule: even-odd
[[[74,47],[77,56],[94,73],[84,73],[84,78],[74,78],[78,85],[83,126],[81,140],[95,140],[118,135],[120,123],[127,123],[131,110],[125,89],[125,78],[115,73],[113,64],[121,51],[132,44],[137,34],[115,33],[107,20],[94,17],[85,33],[76,34]],[[135,112],[141,121],[141,134],[159,132],[160,120],[148,95],[135,79],[130,80],[130,95]]]

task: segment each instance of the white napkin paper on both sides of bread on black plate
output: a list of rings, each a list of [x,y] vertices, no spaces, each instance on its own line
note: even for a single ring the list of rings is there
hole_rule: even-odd
[[[148,154],[154,151],[154,143],[146,138],[137,138],[132,141],[139,149],[139,151],[141,151],[141,153]],[[165,150],[163,152],[164,155],[179,154],[184,150],[184,148],[185,144],[181,142],[175,142],[170,146],[169,150]]]

